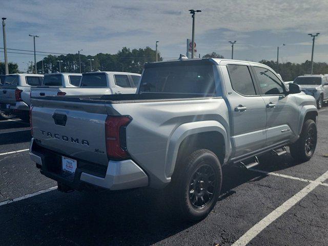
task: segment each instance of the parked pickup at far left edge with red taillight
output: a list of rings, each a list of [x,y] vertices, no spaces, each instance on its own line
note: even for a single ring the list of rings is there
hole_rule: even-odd
[[[41,74],[6,75],[5,82],[0,87],[0,110],[28,120],[31,86],[40,86],[42,81],[43,75]]]

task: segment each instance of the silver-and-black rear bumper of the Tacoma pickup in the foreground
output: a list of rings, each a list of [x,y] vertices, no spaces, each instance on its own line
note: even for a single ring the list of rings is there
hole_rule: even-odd
[[[73,189],[80,190],[85,183],[109,190],[125,190],[148,186],[148,176],[133,160],[110,160],[106,174],[101,177],[86,172],[79,167],[79,161],[77,161],[75,174],[67,175],[60,169],[54,171],[55,167],[61,168],[61,159],[58,158],[59,155],[55,155],[50,150],[42,151],[42,148],[39,148],[35,139],[32,138],[30,157],[39,165],[40,172]]]

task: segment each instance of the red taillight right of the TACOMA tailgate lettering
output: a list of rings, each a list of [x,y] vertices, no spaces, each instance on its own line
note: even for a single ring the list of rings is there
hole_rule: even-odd
[[[129,156],[126,128],[131,120],[130,116],[107,116],[105,134],[108,157],[122,159]]]

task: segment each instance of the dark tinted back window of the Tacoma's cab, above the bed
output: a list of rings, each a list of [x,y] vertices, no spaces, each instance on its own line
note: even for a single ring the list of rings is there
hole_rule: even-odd
[[[190,60],[146,64],[139,93],[185,93],[215,96],[213,64]]]

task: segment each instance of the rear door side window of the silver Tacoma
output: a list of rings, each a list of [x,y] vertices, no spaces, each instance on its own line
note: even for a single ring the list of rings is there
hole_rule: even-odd
[[[241,95],[256,95],[255,86],[248,66],[227,65],[232,89]]]

